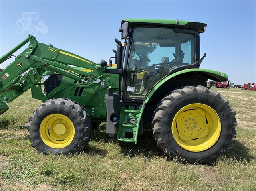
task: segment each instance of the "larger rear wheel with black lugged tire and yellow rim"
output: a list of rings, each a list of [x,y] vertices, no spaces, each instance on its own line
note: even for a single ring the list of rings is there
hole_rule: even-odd
[[[181,87],[157,104],[153,136],[171,158],[211,164],[236,137],[235,114],[217,91],[200,85]]]

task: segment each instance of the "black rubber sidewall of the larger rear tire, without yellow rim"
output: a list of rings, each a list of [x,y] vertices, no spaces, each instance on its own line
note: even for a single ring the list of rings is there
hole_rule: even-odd
[[[183,96],[180,98],[175,99],[175,104],[170,104],[163,115],[163,120],[161,121],[161,125],[166,127],[162,128],[163,133],[161,133],[161,136],[164,139],[167,152],[170,152],[169,154],[172,156],[174,155],[177,158],[185,158],[187,161],[197,161],[200,159],[201,162],[204,163],[208,162],[208,160],[212,158],[216,158],[220,152],[222,152],[227,147],[227,144],[229,143],[232,135],[232,128],[229,128],[232,124],[232,118],[228,115],[230,111],[227,107],[225,107],[222,99],[218,98],[219,96],[216,96],[216,98],[210,94],[198,93],[194,91],[190,94],[183,94]],[[220,118],[221,132],[218,140],[211,148],[202,152],[191,152],[185,150],[177,144],[172,134],[171,125],[175,115],[181,108],[189,104],[198,103],[210,106],[215,110]]]

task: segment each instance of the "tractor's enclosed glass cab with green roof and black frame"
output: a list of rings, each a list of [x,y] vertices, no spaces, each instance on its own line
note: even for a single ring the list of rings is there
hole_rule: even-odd
[[[118,69],[105,69],[120,74],[122,100],[142,102],[161,79],[177,71],[199,68],[199,34],[206,26],[178,20],[123,20],[119,31],[125,46],[117,53]]]

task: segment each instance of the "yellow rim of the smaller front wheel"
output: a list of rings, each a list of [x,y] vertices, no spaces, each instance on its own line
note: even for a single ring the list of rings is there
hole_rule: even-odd
[[[42,120],[39,128],[42,141],[51,148],[68,146],[75,136],[71,120],[62,114],[51,114]]]

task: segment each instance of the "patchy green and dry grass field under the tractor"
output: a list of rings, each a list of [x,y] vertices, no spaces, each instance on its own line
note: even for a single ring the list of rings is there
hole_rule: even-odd
[[[236,111],[233,147],[214,165],[181,164],[163,156],[151,130],[137,145],[116,142],[105,124],[73,156],[37,154],[28,140],[28,118],[40,101],[24,93],[0,116],[0,191],[58,190],[256,190],[256,92],[216,89]]]

